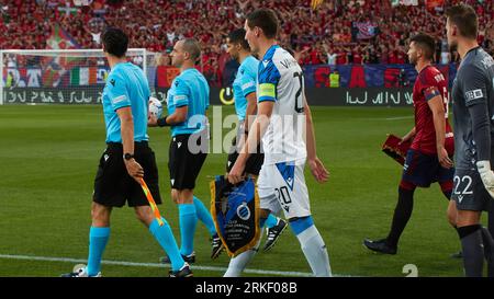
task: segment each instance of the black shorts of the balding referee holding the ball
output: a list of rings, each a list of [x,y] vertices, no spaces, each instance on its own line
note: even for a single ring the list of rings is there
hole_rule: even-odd
[[[207,157],[206,131],[181,134],[171,138],[168,170],[171,188],[193,189],[202,164]]]

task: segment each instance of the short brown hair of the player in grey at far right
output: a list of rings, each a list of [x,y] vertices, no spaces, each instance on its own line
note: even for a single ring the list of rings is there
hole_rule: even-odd
[[[459,4],[446,10],[449,22],[457,25],[461,36],[476,39],[479,33],[479,19],[475,10],[467,4]]]

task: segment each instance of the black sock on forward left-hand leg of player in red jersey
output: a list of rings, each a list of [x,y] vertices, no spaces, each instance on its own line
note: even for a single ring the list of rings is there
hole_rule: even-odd
[[[388,234],[386,243],[396,248],[403,230],[412,216],[414,209],[414,192],[415,189],[405,189],[398,187],[398,202],[394,209],[393,222],[391,225],[390,234]]]

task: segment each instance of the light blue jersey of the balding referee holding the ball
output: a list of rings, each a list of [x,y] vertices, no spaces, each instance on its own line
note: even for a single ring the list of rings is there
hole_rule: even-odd
[[[183,106],[188,106],[187,119],[171,126],[171,136],[199,133],[206,126],[205,111],[210,106],[210,87],[204,76],[195,68],[182,71],[171,82],[168,91],[168,114]]]

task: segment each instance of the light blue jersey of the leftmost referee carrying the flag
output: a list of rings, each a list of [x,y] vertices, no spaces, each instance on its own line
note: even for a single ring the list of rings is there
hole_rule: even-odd
[[[131,64],[117,64],[111,70],[103,89],[103,112],[106,142],[122,142],[121,123],[116,111],[132,108],[134,141],[147,141],[147,107],[149,84],[144,71]]]

